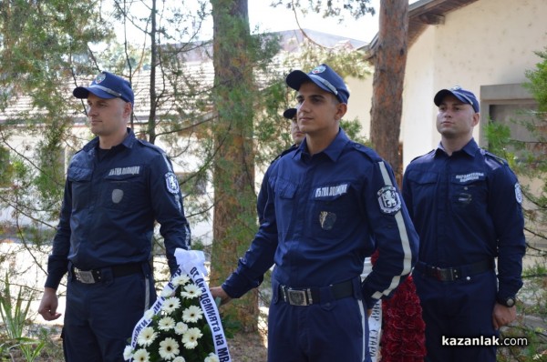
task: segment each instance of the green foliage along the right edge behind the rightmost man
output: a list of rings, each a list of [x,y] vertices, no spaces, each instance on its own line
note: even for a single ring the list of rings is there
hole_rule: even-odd
[[[526,72],[529,83],[524,84],[538,102],[539,111],[532,120],[519,121],[528,129],[533,142],[514,139],[509,126],[489,122],[485,129],[489,150],[509,162],[511,168],[527,186],[522,187],[525,232],[528,248],[526,256],[535,260],[523,270],[524,287],[519,292],[518,320],[504,327],[502,337],[525,337],[526,347],[503,347],[498,350],[498,360],[547,361],[547,157],[545,111],[547,111],[547,52],[538,52],[542,62],[536,69]],[[516,122],[516,121],[515,121]]]

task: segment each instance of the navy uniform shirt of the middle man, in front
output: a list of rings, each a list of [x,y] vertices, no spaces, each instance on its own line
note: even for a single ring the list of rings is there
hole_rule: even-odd
[[[222,287],[241,297],[275,264],[288,287],[325,287],[358,277],[366,256],[379,258],[363,284],[366,305],[389,295],[408,275],[418,236],[393,172],[366,146],[340,130],[323,152],[306,141],[279,158],[264,177],[263,223],[237,270]]]

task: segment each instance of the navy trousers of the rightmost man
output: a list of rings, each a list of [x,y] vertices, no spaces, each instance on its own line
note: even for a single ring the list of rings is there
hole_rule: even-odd
[[[426,323],[427,362],[495,362],[495,346],[443,346],[443,337],[498,337],[492,324],[497,279],[488,271],[456,281],[413,273]],[[459,339],[464,341],[464,339]]]

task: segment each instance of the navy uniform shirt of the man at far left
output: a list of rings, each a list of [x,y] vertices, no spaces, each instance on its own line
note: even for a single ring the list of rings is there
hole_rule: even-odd
[[[67,169],[46,287],[58,287],[69,261],[82,270],[147,262],[155,220],[173,271],[175,249],[188,248],[190,228],[170,160],[130,129],[100,160],[93,139]]]

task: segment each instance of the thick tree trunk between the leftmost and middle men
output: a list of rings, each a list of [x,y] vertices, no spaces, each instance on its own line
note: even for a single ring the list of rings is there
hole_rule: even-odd
[[[247,0],[212,0],[214,104],[214,211],[212,285],[237,266],[256,232],[253,153],[253,64]],[[246,332],[257,330],[258,291],[232,300],[225,316]]]

